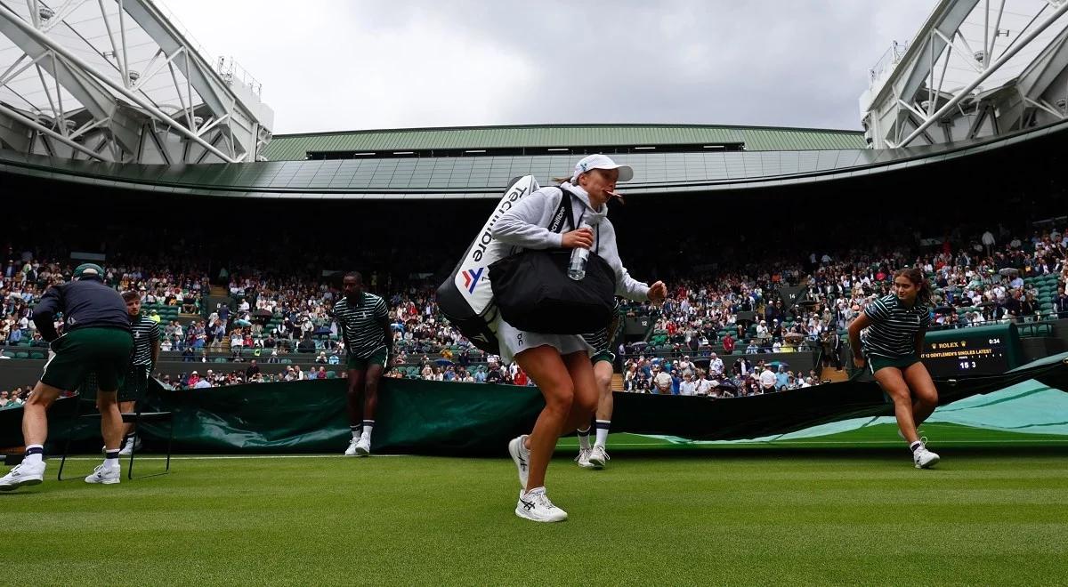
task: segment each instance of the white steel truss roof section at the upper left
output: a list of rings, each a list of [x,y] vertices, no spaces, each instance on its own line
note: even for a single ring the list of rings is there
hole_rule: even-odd
[[[13,60],[0,70],[0,148],[116,162],[255,160],[273,126],[258,83],[232,62],[213,68],[190,38],[152,0],[0,3],[0,53]]]

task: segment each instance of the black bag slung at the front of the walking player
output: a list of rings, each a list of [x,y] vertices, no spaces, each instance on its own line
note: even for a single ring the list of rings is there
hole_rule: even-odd
[[[566,190],[549,229],[560,233],[566,219],[571,229],[579,224],[571,213]],[[597,249],[600,248],[600,227]],[[489,282],[504,320],[527,332],[583,334],[604,328],[615,303],[615,272],[608,261],[591,251],[586,275],[567,276],[570,249],[533,250],[504,257],[489,266]]]

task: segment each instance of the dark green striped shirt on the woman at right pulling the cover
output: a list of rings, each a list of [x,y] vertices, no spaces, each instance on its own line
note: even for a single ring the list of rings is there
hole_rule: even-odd
[[[916,303],[905,307],[893,294],[869,303],[864,314],[871,320],[863,337],[864,354],[890,359],[914,355],[916,333],[927,329],[931,321],[926,305]]]

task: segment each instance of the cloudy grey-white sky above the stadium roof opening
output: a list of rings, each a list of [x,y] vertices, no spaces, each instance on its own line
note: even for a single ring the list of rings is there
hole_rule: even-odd
[[[860,128],[932,0],[157,0],[263,83],[276,134],[545,123]]]

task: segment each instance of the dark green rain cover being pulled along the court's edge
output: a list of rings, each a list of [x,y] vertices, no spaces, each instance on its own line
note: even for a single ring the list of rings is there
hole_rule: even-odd
[[[1012,371],[936,378],[942,404],[1030,379],[1068,390],[1068,353]],[[233,385],[167,391],[153,383],[153,408],[174,412],[176,453],[340,453],[348,443],[345,381]],[[50,448],[72,438],[99,450],[99,419],[70,417],[77,398],[49,416]],[[544,401],[536,387],[386,380],[380,390],[376,453],[503,455],[505,443],[529,431]],[[893,414],[874,382],[847,381],[768,395],[708,399],[615,394],[612,430],[693,440],[736,440],[786,433],[820,424]],[[0,446],[21,444],[21,409],[0,411]],[[167,428],[142,426],[148,448],[166,443]]]

